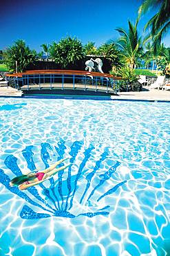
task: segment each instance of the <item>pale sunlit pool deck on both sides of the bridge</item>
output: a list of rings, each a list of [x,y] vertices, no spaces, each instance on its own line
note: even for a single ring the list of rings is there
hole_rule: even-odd
[[[118,95],[111,95],[111,100],[161,100],[170,102],[170,91],[162,91],[157,89],[144,89],[146,91],[129,91],[118,93]],[[8,87],[0,86],[0,97],[21,97],[22,91]],[[94,94],[95,95],[95,94]]]

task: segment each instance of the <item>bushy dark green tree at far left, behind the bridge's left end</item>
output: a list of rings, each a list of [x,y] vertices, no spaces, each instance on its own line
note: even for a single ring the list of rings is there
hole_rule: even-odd
[[[6,49],[3,56],[10,71],[23,72],[28,64],[36,60],[36,51],[30,50],[23,40],[17,40]]]

